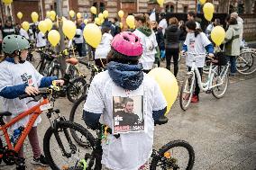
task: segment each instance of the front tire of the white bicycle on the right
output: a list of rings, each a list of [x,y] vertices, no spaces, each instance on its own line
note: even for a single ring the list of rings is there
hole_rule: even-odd
[[[184,99],[183,97],[183,92],[186,90],[186,85],[187,85],[187,81],[189,81],[189,78],[193,78],[192,82],[193,82],[193,86],[189,87],[189,91],[190,91],[190,94],[188,94],[188,100],[187,100],[187,96],[186,96],[186,99]],[[192,98],[192,95],[193,95],[193,92],[194,92],[194,88],[195,88],[195,78],[196,76],[195,75],[189,75],[185,78],[185,80],[183,81],[182,83],[182,86],[181,86],[181,89],[180,89],[180,94],[179,94],[179,105],[180,105],[180,108],[183,110],[183,111],[186,111],[189,104],[191,103],[191,98]],[[189,84],[189,83],[188,83]],[[191,82],[190,82],[191,84]],[[193,89],[191,89],[193,88]],[[192,93],[191,93],[191,90],[192,90]],[[184,105],[183,101],[187,101],[187,104]]]

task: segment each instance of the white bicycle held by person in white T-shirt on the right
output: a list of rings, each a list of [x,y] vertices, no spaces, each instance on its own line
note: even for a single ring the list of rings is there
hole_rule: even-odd
[[[196,54],[196,53],[187,53],[187,58],[192,58],[193,60],[191,71],[187,72],[187,77],[184,79],[183,84],[181,86],[180,95],[179,95],[179,105],[183,111],[186,111],[194,92],[194,88],[196,85],[196,76],[197,82],[200,89],[206,94],[213,94],[215,98],[222,98],[227,90],[227,86],[229,84],[228,77],[228,68],[230,67],[229,62],[225,63],[224,66],[213,66],[213,64],[217,64],[216,60],[210,58],[208,62],[209,72],[207,75],[206,82],[203,83],[201,80],[200,73],[196,66],[197,58],[206,58],[206,54]]]

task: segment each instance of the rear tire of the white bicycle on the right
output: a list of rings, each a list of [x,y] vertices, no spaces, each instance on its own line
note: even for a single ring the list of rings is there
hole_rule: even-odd
[[[218,84],[218,81],[221,81],[220,80],[221,76],[219,76],[218,74],[214,74],[214,77],[213,77],[213,85],[217,85]],[[226,80],[226,81],[225,81]],[[215,81],[215,82],[214,82]],[[216,91],[220,91],[220,88],[221,86],[224,85],[224,91],[221,93],[221,94],[217,94]],[[212,94],[215,96],[215,98],[217,99],[220,99],[224,96],[226,90],[227,90],[227,87],[229,85],[229,77],[227,76],[227,73],[224,75],[224,84],[222,85],[217,85],[215,86],[213,89],[212,89]]]

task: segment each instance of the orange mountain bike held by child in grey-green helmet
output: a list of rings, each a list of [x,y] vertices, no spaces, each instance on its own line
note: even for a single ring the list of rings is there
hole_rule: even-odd
[[[80,125],[78,125],[77,123],[66,121],[65,118],[60,115],[59,109],[54,110],[50,104],[50,102],[53,102],[53,105],[54,105],[55,96],[56,96],[56,93],[59,91],[59,86],[51,85],[48,88],[41,88],[39,90],[40,90],[40,94],[37,94],[34,96],[31,96],[28,94],[23,94],[19,96],[19,99],[32,97],[32,101],[35,101],[35,102],[40,101],[41,98],[42,100],[41,100],[41,103],[33,106],[28,111],[25,111],[19,114],[18,116],[14,117],[14,119],[12,119],[11,121],[5,122],[3,118],[4,116],[11,116],[12,115],[11,112],[0,112],[0,131],[2,131],[1,136],[4,136],[5,138],[5,146],[3,145],[2,139],[0,139],[0,164],[3,160],[7,166],[16,165],[17,169],[19,170],[25,169],[25,161],[23,158],[18,157],[18,152],[23,146],[23,142],[28,136],[30,130],[32,130],[33,123],[36,121],[38,116],[44,111],[48,111],[46,115],[50,121],[50,128],[46,131],[43,139],[44,150],[46,148],[45,145],[49,147],[49,148],[46,148],[46,150],[50,150],[51,148],[58,146],[58,148],[60,148],[60,152],[62,153],[62,156],[67,156],[70,158],[70,157],[75,157],[74,155],[76,153],[80,154],[78,153],[80,149],[76,147],[76,145],[74,144],[75,142],[73,142],[73,140],[71,139],[71,134],[69,134],[69,131],[70,130],[78,131],[79,134],[81,134],[80,136],[82,138],[83,136],[87,136],[87,130],[81,127]],[[55,119],[52,119],[53,114],[57,115],[54,117]],[[26,126],[23,128],[22,133],[13,144],[8,134],[8,129],[15,122],[22,120],[24,117],[28,115],[31,115],[30,120],[28,121]],[[65,140],[61,136],[62,132],[64,132]],[[52,143],[50,143],[51,135],[55,137],[54,138],[55,140]],[[66,141],[68,141],[68,143]],[[69,148],[65,148],[65,147],[69,147]]]

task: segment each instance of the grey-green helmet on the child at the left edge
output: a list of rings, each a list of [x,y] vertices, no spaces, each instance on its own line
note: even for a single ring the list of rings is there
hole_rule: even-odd
[[[7,54],[13,54],[15,50],[29,49],[30,43],[23,36],[8,35],[3,40],[3,51]]]

